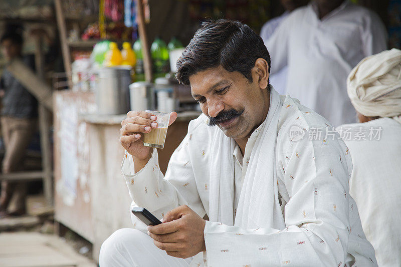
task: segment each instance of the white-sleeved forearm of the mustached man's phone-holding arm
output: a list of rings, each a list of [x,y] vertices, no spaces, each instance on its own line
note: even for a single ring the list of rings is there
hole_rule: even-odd
[[[319,229],[332,227],[323,224],[314,225],[311,227],[314,229],[312,231],[295,225],[284,230],[243,229],[207,221],[204,234],[208,264],[222,266],[241,263],[238,265],[244,266],[252,262],[266,266],[289,263],[294,266],[337,266],[340,261],[345,262],[342,239],[347,240],[348,232],[332,228],[333,233],[338,230],[338,236],[341,236],[336,241],[337,235],[331,235],[326,229]]]

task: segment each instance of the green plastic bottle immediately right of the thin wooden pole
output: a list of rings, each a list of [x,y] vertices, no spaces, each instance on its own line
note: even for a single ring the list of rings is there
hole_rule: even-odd
[[[157,38],[150,47],[150,55],[153,62],[154,78],[164,77],[170,71],[170,62],[168,60],[168,49],[166,43]]]

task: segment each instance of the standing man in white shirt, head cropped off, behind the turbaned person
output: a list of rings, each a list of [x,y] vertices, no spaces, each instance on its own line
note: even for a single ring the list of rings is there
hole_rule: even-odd
[[[386,30],[373,12],[349,0],[315,0],[292,12],[265,45],[271,74],[288,66],[286,93],[338,126],[355,122],[348,73],[386,43]]]

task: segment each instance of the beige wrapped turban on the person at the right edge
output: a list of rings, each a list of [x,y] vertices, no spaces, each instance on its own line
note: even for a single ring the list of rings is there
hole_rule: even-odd
[[[401,51],[393,48],[364,58],[348,75],[347,92],[360,114],[401,123]]]

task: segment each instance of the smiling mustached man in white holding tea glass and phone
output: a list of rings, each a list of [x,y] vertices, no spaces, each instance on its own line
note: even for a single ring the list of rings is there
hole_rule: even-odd
[[[157,150],[143,146],[143,133],[157,128],[154,115],[132,111],[120,131],[133,203],[163,223],[148,235],[113,233],[101,266],[376,265],[348,194],[347,147],[334,131],[327,138],[324,118],[269,85],[270,56],[258,35],[239,22],[206,22],[177,67],[203,114],[166,175]],[[320,138],[310,140],[316,129]]]

